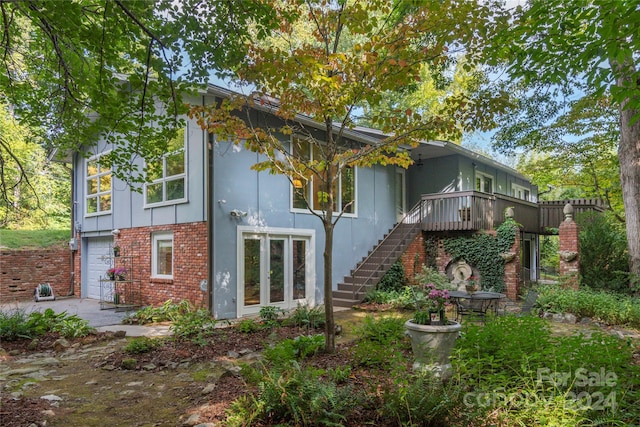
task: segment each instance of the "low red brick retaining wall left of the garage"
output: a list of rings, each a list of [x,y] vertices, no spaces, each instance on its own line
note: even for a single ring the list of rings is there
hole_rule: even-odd
[[[0,252],[0,302],[33,298],[39,283],[49,283],[55,296],[67,295],[71,280],[71,252],[4,250]]]

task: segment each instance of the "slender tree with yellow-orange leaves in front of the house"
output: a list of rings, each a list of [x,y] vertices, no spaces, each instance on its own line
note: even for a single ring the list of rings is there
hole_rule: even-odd
[[[253,169],[285,175],[296,188],[296,201],[322,222],[327,351],[335,350],[333,232],[354,202],[353,193],[338,192],[338,182],[348,179],[353,167],[406,167],[411,159],[399,150],[401,145],[456,136],[459,122],[474,120],[469,109],[461,108],[459,96],[443,96],[440,109],[424,112],[398,110],[384,101],[389,92],[419,81],[425,64],[437,69],[446,62],[450,45],[475,49],[477,33],[499,23],[490,19],[492,6],[470,1],[274,2],[276,15],[289,20],[272,34],[273,42],[250,43],[247,60],[236,69],[238,80],[254,88],[252,94],[191,108],[209,132],[264,155]],[[283,125],[252,126],[252,106],[269,108]],[[388,135],[378,144],[347,138],[359,109],[370,112],[371,125]],[[301,114],[315,125],[305,125]],[[313,129],[318,125],[322,136]]]

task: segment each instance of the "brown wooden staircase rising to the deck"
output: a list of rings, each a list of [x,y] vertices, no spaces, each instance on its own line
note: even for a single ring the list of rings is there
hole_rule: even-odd
[[[402,222],[395,225],[385,237],[362,259],[350,276],[338,283],[333,291],[335,307],[352,307],[362,302],[371,289],[375,289],[382,276],[400,258],[420,232],[419,210],[412,210]]]

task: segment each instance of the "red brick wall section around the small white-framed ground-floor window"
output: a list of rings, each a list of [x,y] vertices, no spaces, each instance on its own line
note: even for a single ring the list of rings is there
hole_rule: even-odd
[[[173,231],[173,279],[151,277],[153,233]],[[160,305],[167,300],[189,300],[207,306],[207,292],[200,281],[207,278],[207,225],[204,222],[121,229],[114,239],[121,256],[131,256],[132,279],[139,280],[143,305]]]

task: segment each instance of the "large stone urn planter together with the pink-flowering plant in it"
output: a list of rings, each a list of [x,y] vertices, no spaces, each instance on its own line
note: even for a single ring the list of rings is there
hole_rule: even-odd
[[[451,369],[449,356],[462,326],[448,320],[449,291],[433,283],[412,287],[416,312],[405,322],[405,334],[411,339],[414,369],[427,369],[446,376]]]

